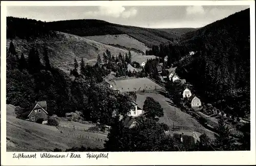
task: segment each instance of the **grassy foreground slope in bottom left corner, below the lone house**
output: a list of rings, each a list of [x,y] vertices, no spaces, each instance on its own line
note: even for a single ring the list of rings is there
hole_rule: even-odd
[[[54,148],[66,150],[80,146],[103,148],[104,142],[80,138],[80,135],[99,139],[105,139],[105,135],[37,124],[13,115],[14,106],[7,105],[7,151],[52,151]]]

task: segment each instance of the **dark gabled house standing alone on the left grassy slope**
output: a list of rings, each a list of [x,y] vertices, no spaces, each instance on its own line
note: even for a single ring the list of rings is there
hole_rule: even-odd
[[[33,109],[29,114],[29,120],[32,122],[37,122],[42,120],[42,123],[47,123],[47,103],[46,101],[38,101],[33,104]]]

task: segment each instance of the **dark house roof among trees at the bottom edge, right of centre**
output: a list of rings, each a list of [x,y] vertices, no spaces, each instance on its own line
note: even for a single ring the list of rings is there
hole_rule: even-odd
[[[182,136],[182,142],[181,142]],[[194,149],[196,146],[195,139],[193,136],[174,133],[174,144],[177,146],[183,146],[186,150]]]

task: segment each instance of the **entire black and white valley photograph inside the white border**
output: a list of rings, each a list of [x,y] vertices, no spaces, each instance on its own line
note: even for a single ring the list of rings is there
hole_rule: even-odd
[[[231,3],[7,6],[6,151],[250,151],[250,24]]]

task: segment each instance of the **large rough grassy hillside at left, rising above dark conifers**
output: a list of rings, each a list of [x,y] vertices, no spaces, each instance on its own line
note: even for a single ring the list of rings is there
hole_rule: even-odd
[[[49,48],[49,58],[51,64],[55,67],[68,72],[70,68],[73,68],[74,58],[81,60],[84,58],[87,63],[94,64],[97,59],[97,55],[100,54],[102,58],[103,52],[109,49],[112,54],[118,55],[128,53],[128,50],[113,47],[110,45],[102,44],[93,40],[89,40],[83,37],[70,35],[66,33],[58,33],[56,38],[39,38],[33,41],[26,41],[23,39],[15,39],[13,43],[16,47],[16,51],[20,54],[24,52],[25,56],[28,56],[29,49],[32,45],[36,45],[39,49],[42,59],[42,48],[46,44]],[[9,47],[10,40],[7,39],[7,47]],[[139,56],[140,53],[131,51],[133,57]]]

